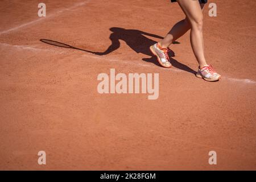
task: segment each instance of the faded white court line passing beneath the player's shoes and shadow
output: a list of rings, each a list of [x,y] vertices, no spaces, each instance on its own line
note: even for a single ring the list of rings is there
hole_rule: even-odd
[[[59,53],[63,53],[63,52],[60,52],[60,51],[53,51],[51,49],[40,49],[40,48],[35,48],[34,47],[31,47],[31,46],[18,46],[18,45],[11,45],[11,44],[6,44],[6,43],[0,43],[0,45],[2,46],[9,46],[9,47],[15,47],[15,48],[20,48],[20,49],[28,49],[28,50],[32,50],[32,51],[47,51],[47,52],[59,52]],[[133,63],[132,61],[130,60],[118,60],[118,59],[109,59],[107,57],[102,57],[102,56],[98,56],[98,55],[89,55],[89,54],[85,54],[85,55],[82,55],[83,57],[91,57],[93,59],[97,59],[97,60],[105,60],[105,61],[112,61],[112,62],[118,62],[118,63],[123,63],[123,64],[129,64],[129,65],[136,65],[136,66],[139,66],[139,67],[152,67],[152,65],[149,65],[149,64],[142,64],[142,63]],[[177,68],[171,68],[171,69],[162,69],[162,71],[174,71],[174,72],[183,72],[181,71],[180,69],[177,69]],[[225,77],[222,77],[224,78],[225,80],[229,80],[229,81],[232,81],[232,82],[240,82],[240,83],[243,83],[243,84],[256,84],[256,81],[254,80],[251,80],[251,79],[240,79],[240,78],[231,78],[231,77],[228,77],[228,76],[225,76]]]

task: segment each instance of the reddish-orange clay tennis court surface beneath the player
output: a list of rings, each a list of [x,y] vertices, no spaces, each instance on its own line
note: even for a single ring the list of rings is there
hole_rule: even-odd
[[[148,47],[184,18],[177,3],[43,2],[46,17],[39,1],[0,2],[0,169],[256,169],[255,1],[209,1],[217,17],[205,7],[205,52],[218,82],[195,77],[188,33],[170,47],[173,68],[152,57]],[[110,35],[119,47],[86,52],[106,51]],[[111,68],[159,73],[159,98],[99,94],[97,76]]]

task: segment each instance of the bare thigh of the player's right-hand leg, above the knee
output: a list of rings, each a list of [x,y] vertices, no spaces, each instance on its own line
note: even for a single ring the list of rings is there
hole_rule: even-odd
[[[194,0],[177,0],[190,23],[203,20],[203,5]]]

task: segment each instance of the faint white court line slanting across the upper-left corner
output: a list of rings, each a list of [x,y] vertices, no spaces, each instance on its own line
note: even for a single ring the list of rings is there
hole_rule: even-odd
[[[34,24],[34,23],[40,22],[40,21],[45,20],[47,18],[51,18],[53,16],[59,15],[60,13],[63,13],[64,11],[76,9],[76,7],[80,7],[82,5],[85,5],[85,3],[88,3],[88,2],[89,2],[89,0],[88,1],[84,1],[84,2],[80,2],[80,3],[76,3],[74,6],[71,6],[69,8],[65,8],[65,9],[61,9],[61,10],[57,11],[54,14],[46,15],[46,17],[38,17],[38,19],[33,20],[32,22],[24,23],[24,24],[21,24],[18,27],[14,27],[14,28],[10,28],[9,30],[2,31],[2,32],[0,32],[0,35],[6,34],[6,33],[11,32],[11,31],[18,30],[19,28],[26,27],[26,26],[28,26],[30,24]]]

